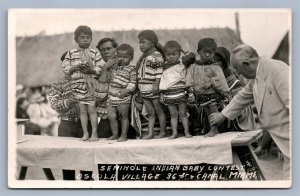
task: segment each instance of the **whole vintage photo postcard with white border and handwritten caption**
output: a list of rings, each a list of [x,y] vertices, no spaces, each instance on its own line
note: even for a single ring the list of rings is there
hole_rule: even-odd
[[[10,188],[289,188],[291,10],[9,9]]]

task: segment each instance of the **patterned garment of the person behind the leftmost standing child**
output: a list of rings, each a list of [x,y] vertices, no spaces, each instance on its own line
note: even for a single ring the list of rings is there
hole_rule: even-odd
[[[71,80],[62,79],[57,83],[51,85],[48,95],[48,101],[62,119],[69,119],[70,121],[78,120],[78,113],[75,105],[68,107],[66,100],[72,95]]]

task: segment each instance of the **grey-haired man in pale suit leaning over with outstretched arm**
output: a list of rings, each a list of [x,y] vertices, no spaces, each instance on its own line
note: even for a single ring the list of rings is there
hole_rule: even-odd
[[[225,118],[233,120],[254,101],[262,128],[267,129],[284,156],[284,179],[290,176],[290,67],[282,61],[259,57],[250,46],[241,45],[232,52],[232,66],[247,79],[222,112],[210,115],[211,125]]]

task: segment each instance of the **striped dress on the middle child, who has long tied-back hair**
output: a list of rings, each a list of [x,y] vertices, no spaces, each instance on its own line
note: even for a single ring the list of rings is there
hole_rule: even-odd
[[[152,90],[156,79],[161,78],[163,62],[163,56],[158,51],[142,59],[138,68],[138,88],[143,98],[159,97],[159,95],[153,95]]]

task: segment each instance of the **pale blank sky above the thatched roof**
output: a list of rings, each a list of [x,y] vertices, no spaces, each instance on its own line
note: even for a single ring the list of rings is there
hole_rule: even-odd
[[[9,27],[17,36],[73,32],[79,25],[93,30],[236,29],[239,13],[241,38],[261,56],[271,57],[290,30],[286,9],[19,9],[10,11]],[[198,40],[196,40],[198,41]]]

